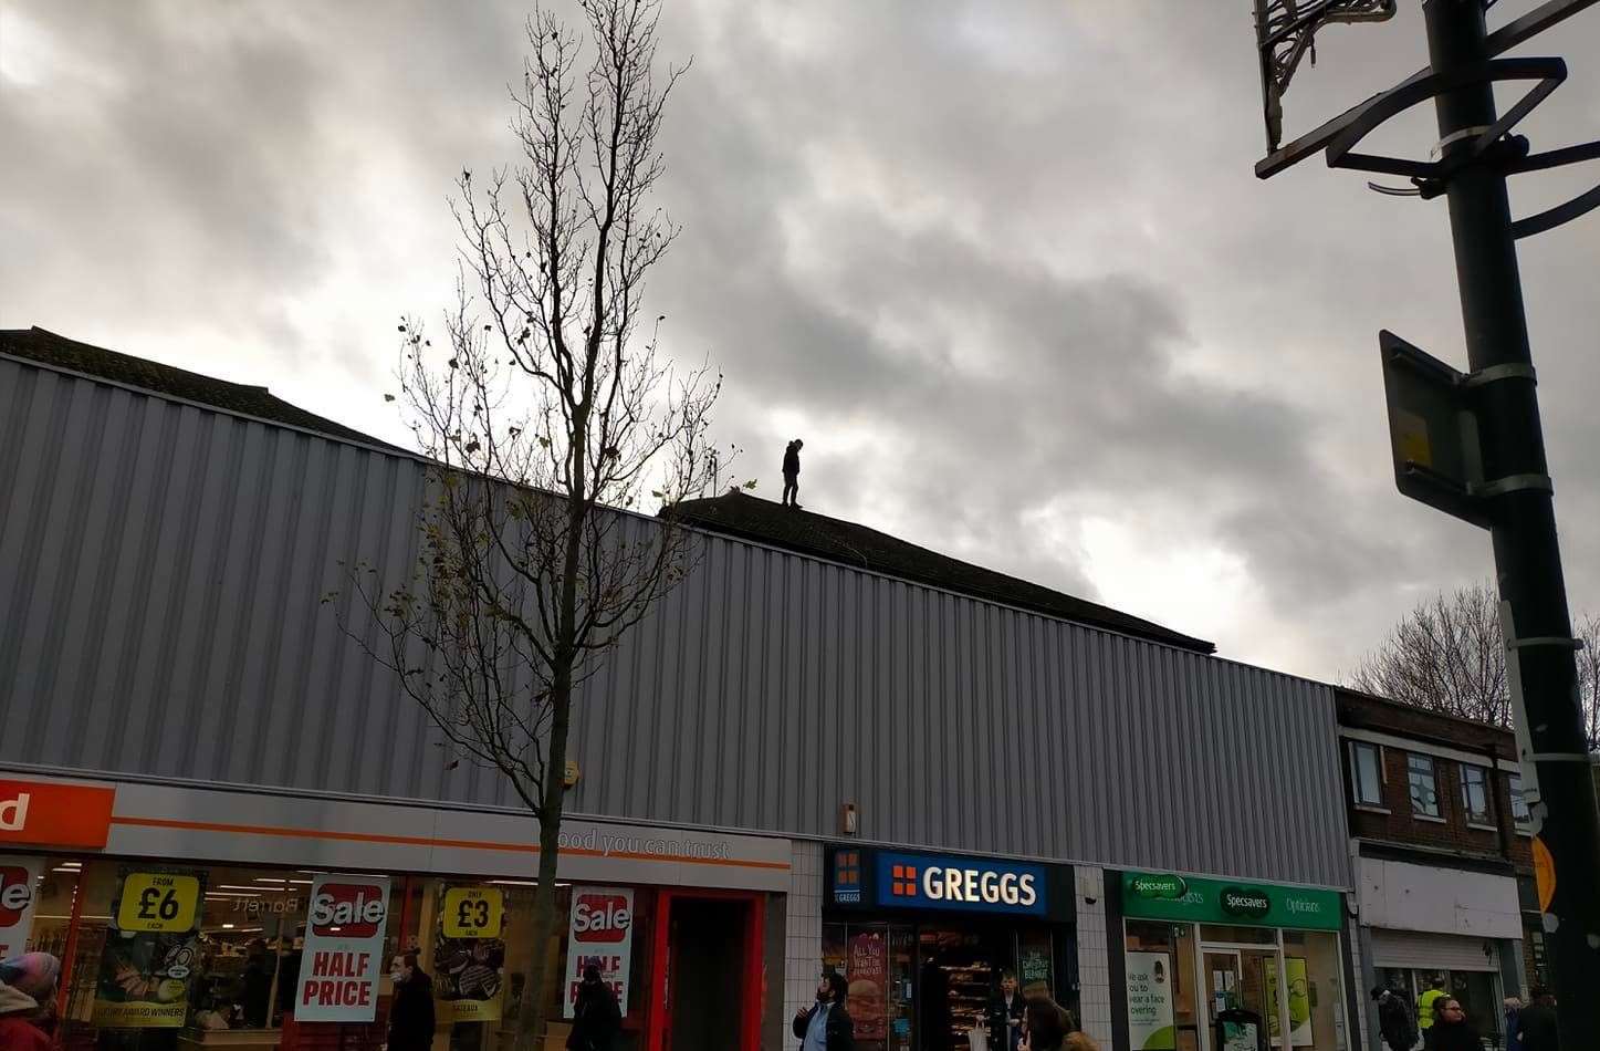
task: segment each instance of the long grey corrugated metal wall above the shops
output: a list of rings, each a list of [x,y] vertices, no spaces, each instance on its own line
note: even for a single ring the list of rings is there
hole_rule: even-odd
[[[416,462],[0,360],[0,760],[512,805],[336,627]],[[648,528],[648,526],[640,526]],[[589,814],[1346,885],[1325,686],[763,547],[592,680]]]

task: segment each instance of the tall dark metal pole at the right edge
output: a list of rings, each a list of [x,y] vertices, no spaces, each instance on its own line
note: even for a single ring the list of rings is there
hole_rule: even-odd
[[[1426,0],[1429,58],[1435,72],[1488,58],[1482,0]],[[1445,152],[1470,149],[1472,128],[1494,123],[1488,82],[1442,94],[1438,133]],[[1485,376],[1478,400],[1483,477],[1493,498],[1494,568],[1507,653],[1522,683],[1520,739],[1538,773],[1539,835],[1555,859],[1555,897],[1546,912],[1562,1046],[1600,1048],[1600,816],[1578,701],[1571,619],[1547,485],[1544,434],[1531,376],[1528,322],[1510,234],[1506,178],[1467,165],[1450,178],[1450,226],[1456,245],[1467,360]],[[1510,366],[1496,370],[1494,366]],[[1518,368],[1522,366],[1522,368]],[[1499,482],[1496,486],[1494,483]],[[1526,766],[1525,766],[1526,769]]]

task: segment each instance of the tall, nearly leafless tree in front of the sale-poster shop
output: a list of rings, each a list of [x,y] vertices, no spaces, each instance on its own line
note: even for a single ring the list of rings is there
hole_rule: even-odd
[[[720,376],[675,373],[658,355],[664,317],[640,317],[645,277],[678,232],[648,203],[683,72],[653,74],[658,3],[579,0],[586,32],[547,11],[528,21],[512,93],[522,160],[486,186],[461,174],[443,349],[400,325],[398,398],[430,462],[421,555],[398,582],[357,568],[371,617],[346,621],[451,752],[504,776],[539,824],[518,1051],[542,1037],[552,979],[573,702],[693,560],[670,515],[619,509],[718,480],[707,426]]]

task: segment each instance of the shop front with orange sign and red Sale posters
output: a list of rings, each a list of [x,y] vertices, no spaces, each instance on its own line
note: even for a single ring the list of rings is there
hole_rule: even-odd
[[[760,1046],[781,968],[787,840],[568,821],[539,945],[517,814],[13,777],[0,816],[0,942],[62,960],[69,1049],[376,1051],[414,952],[435,1051],[509,1048],[534,953],[550,1046],[594,963],[619,1046],[731,1051]]]

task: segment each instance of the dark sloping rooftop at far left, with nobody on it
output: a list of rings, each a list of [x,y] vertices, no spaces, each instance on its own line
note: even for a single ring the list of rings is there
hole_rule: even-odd
[[[162,394],[197,405],[211,405],[240,413],[242,416],[254,416],[256,419],[286,424],[302,430],[315,430],[331,438],[344,438],[347,442],[360,442],[398,451],[398,446],[389,442],[381,442],[360,430],[352,430],[344,424],[336,424],[331,419],[290,405],[266,387],[235,384],[182,368],[173,368],[171,365],[147,362],[130,354],[118,354],[78,342],[77,339],[67,339],[38,326],[0,328],[0,354],[50,368],[107,379],[125,387],[149,390],[150,394]]]

